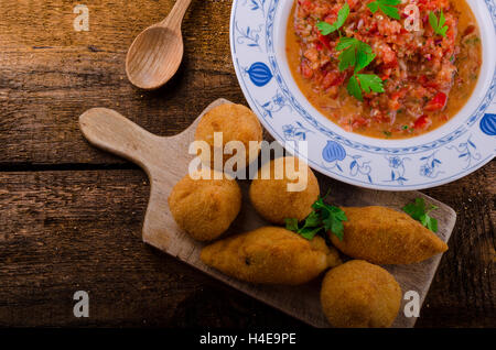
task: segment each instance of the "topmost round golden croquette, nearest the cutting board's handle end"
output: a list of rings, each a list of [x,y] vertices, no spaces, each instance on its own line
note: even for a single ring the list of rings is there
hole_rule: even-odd
[[[256,147],[250,153],[249,142],[262,141],[262,128],[257,116],[249,108],[242,105],[224,103],[212,109],[200,121],[198,127],[196,128],[195,141],[206,141],[208,143],[211,147],[211,167],[214,167],[213,152],[215,132],[223,133],[223,149],[216,151],[224,155],[224,164],[233,156],[231,154],[224,154],[224,147],[226,146],[226,143],[230,141],[240,141],[244,144],[246,151],[246,166],[258,157],[260,149]],[[204,154],[202,154],[201,157],[205,161],[203,156]]]

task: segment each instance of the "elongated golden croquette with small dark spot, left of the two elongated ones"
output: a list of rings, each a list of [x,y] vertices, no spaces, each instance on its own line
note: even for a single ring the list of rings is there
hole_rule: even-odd
[[[231,277],[257,284],[298,285],[341,263],[321,237],[308,241],[279,227],[263,227],[205,247],[202,261]]]

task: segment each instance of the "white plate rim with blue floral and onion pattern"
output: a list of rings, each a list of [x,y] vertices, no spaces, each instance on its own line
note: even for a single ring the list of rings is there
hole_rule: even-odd
[[[272,136],[309,165],[342,182],[385,190],[411,190],[461,178],[496,153],[496,4],[468,0],[481,28],[483,66],[475,92],[446,124],[408,140],[346,132],[322,116],[295,85],[285,57],[293,0],[234,0],[233,63],[251,109]],[[309,142],[308,156],[294,142]]]

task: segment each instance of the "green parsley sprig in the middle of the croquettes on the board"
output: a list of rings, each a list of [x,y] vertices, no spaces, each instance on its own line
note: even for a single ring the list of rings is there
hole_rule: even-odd
[[[285,219],[285,228],[299,233],[301,237],[312,240],[319,232],[331,231],[341,241],[344,236],[343,221],[347,221],[345,212],[335,206],[324,203],[324,198],[319,199],[312,205],[313,211],[300,225],[295,218]]]

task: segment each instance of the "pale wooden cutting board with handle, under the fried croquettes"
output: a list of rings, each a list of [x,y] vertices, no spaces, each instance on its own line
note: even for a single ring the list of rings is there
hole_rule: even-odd
[[[252,285],[230,278],[202,263],[200,252],[205,243],[191,239],[172,218],[168,198],[172,187],[187,173],[188,163],[193,158],[187,150],[194,140],[196,125],[203,114],[222,103],[229,103],[229,101],[225,99],[214,101],[190,128],[171,138],[151,134],[118,112],[105,108],[90,109],[83,113],[79,117],[79,125],[91,144],[137,163],[150,177],[150,201],[142,232],[145,243],[309,325],[330,327],[320,305],[322,278],[302,286]],[[330,188],[326,182],[321,182],[320,185],[322,193],[326,193]],[[249,183],[240,182],[240,186],[244,193],[241,212],[225,233],[226,236],[269,225],[257,215],[248,200]],[[439,206],[440,209],[433,214],[439,220],[438,236],[448,242],[456,215],[453,209],[435,199],[418,192],[377,192],[341,183],[338,185],[334,183],[331,188],[332,203],[342,206],[379,205],[399,209],[417,197],[423,197],[428,203]],[[440,260],[441,255],[436,255],[417,264],[385,267],[395,275],[403,294],[407,291],[416,291],[420,295],[420,302],[423,303]],[[393,327],[413,327],[417,319],[405,316],[403,307],[407,302],[402,303]]]

